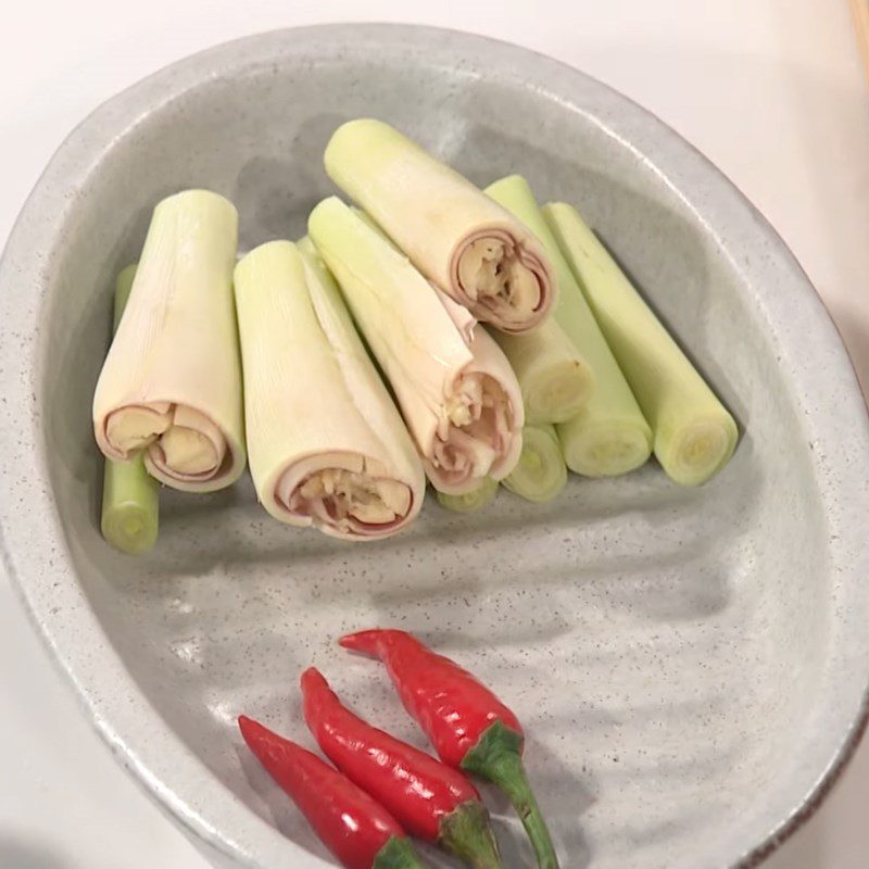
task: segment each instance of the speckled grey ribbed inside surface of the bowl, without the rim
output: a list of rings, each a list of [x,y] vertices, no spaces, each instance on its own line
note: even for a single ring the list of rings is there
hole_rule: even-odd
[[[291,840],[287,865],[326,865],[234,719],[244,711],[312,745],[297,680],[316,663],[361,713],[423,744],[381,669],[335,645],[391,625],[517,710],[565,866],[735,862],[755,827],[771,830],[810,784],[793,758],[817,731],[833,582],[802,396],[741,264],[612,133],[591,86],[567,103],[508,63],[399,38],[275,42],[221,63],[194,86],[164,75],[165,89],[152,87],[153,106],[101,148],[47,254],[36,399],[75,577],[137,690],[210,770],[197,788],[169,771],[165,788],[206,820],[237,798]],[[276,524],[245,480],[210,496],[165,492],[148,557],[102,542],[90,399],[113,278],[154,203],[207,187],[238,205],[242,247],[297,238],[332,192],[328,136],[362,115],[480,184],[520,172],[540,200],[580,206],[739,418],[742,442],[718,479],[679,489],[648,466],[574,478],[544,506],[502,492],[465,517],[432,502],[407,533],[367,545]],[[530,865],[511,813],[491,805],[505,865]],[[252,861],[254,840],[238,845]]]

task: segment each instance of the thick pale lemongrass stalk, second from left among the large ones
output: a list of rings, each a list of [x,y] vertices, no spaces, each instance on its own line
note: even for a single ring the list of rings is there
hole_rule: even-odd
[[[236,267],[251,474],[290,525],[349,540],[419,513],[414,444],[313,245],[272,241]]]

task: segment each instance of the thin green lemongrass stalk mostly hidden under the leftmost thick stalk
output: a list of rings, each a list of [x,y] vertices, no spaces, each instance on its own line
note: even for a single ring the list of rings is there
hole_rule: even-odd
[[[130,265],[117,276],[113,331],[117,331],[135,275],[136,265]],[[154,545],[160,521],[158,488],[141,453],[126,462],[105,459],[100,530],[106,542],[127,555],[140,555]]]

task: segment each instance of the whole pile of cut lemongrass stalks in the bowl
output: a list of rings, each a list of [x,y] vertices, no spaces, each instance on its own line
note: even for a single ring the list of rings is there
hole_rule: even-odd
[[[155,207],[93,398],[116,549],[153,545],[158,482],[212,492],[245,462],[272,516],[348,540],[406,527],[426,478],[471,512],[653,452],[685,486],[727,464],[733,418],[572,207],[517,175],[480,191],[373,119],[325,166],[355,204],[240,261],[223,197]]]

